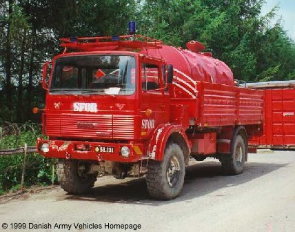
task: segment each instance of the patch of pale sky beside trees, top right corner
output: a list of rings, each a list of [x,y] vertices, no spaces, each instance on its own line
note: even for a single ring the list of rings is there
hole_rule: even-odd
[[[262,14],[266,14],[274,6],[279,7],[276,19],[283,18],[283,28],[287,31],[287,35],[295,41],[295,0],[265,0]]]

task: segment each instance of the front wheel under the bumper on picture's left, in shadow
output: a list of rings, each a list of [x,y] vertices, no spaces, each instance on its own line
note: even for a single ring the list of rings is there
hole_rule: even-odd
[[[89,191],[97,178],[97,173],[87,174],[89,168],[87,161],[59,159],[57,176],[61,188],[70,194]]]

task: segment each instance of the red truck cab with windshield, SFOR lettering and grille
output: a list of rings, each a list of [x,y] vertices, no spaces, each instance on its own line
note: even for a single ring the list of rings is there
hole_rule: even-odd
[[[169,122],[166,67],[159,59],[125,51],[54,57],[45,83],[43,129],[50,143],[43,155],[138,162],[154,129]],[[51,140],[63,149],[54,149]]]

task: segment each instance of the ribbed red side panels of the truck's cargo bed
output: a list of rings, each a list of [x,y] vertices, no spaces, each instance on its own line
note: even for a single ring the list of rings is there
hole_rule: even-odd
[[[201,127],[263,123],[263,91],[198,81],[197,123]]]

